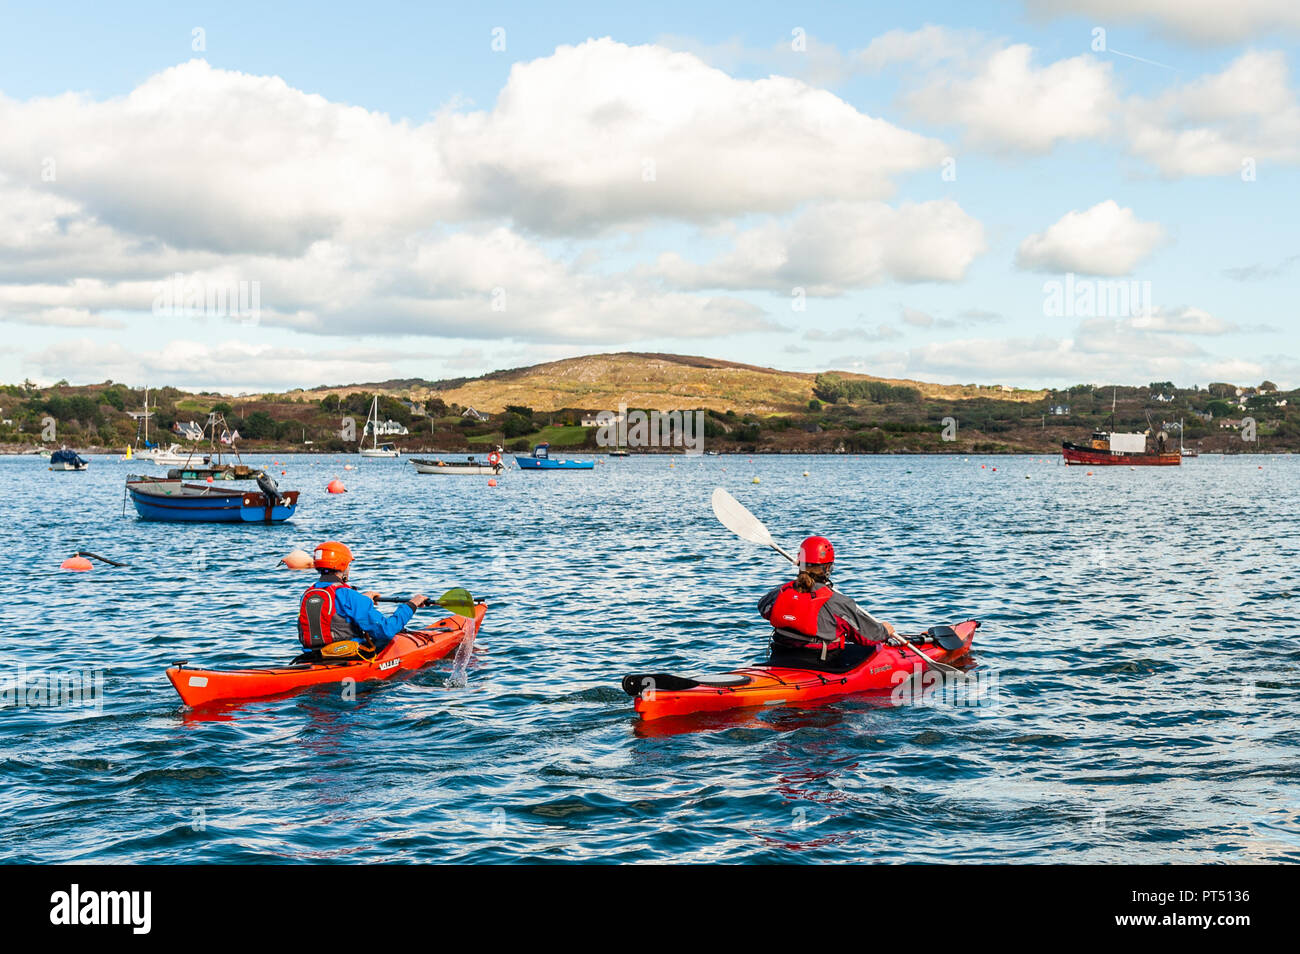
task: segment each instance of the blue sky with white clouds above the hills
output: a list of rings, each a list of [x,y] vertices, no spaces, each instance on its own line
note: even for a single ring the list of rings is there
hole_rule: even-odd
[[[0,3],[0,381],[1300,386],[1294,0],[268,6]]]

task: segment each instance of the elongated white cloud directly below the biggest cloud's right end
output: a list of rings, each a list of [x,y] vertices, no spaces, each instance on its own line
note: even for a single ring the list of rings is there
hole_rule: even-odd
[[[956,282],[984,248],[984,226],[948,199],[898,208],[836,201],[745,230],[732,251],[703,265],[663,255],[654,273],[682,289],[838,295],[888,279]]]

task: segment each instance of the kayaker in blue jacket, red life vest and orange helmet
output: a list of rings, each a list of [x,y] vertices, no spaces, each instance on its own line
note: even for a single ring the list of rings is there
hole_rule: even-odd
[[[378,593],[361,593],[347,585],[351,550],[330,541],[316,547],[312,558],[321,578],[303,594],[298,611],[298,638],[304,649],[318,650],[343,639],[382,649],[429,602],[422,594],[415,595],[385,616],[376,610]]]

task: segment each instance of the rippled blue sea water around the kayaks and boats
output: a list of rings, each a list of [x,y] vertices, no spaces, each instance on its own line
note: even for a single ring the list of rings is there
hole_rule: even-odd
[[[302,504],[266,528],[124,516],[139,464],[0,459],[0,665],[104,675],[101,711],[0,710],[0,860],[1300,860],[1300,459],[630,458],[497,487],[285,460]],[[623,673],[766,643],[785,568],[714,486],[788,546],[832,537],[901,632],[983,620],[992,704],[638,724]],[[164,668],[291,656],[308,576],[276,561],[329,538],[367,589],[489,598],[468,685],[448,660],[187,714]],[[78,548],[130,567],[61,572]]]

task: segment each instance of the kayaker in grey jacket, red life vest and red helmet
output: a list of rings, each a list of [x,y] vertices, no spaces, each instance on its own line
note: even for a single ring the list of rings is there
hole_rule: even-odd
[[[831,589],[831,541],[809,537],[798,556],[800,574],[758,600],[758,611],[772,624],[770,665],[850,669],[893,637],[893,625]]]

